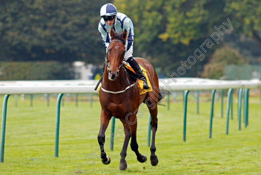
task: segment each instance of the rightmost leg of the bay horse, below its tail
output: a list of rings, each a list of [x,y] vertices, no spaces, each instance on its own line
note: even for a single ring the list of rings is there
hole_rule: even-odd
[[[149,113],[151,116],[150,128],[152,131],[151,146],[150,146],[150,164],[152,166],[156,166],[158,164],[158,158],[157,155],[155,155],[155,151],[156,151],[155,135],[158,128],[158,118],[157,118],[158,109],[157,109],[157,105],[154,106],[153,109],[152,108],[153,107],[149,107]]]

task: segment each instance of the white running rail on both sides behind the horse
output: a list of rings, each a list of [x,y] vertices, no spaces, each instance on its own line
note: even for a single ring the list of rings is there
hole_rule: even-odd
[[[98,93],[96,80],[0,81],[0,94]],[[170,91],[239,89],[261,87],[259,80],[213,80],[200,78],[159,79],[160,87]]]

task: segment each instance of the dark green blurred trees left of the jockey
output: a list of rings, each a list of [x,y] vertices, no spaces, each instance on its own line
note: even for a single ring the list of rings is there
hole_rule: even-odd
[[[98,21],[100,7],[106,2],[1,1],[1,60],[101,62],[104,48]]]

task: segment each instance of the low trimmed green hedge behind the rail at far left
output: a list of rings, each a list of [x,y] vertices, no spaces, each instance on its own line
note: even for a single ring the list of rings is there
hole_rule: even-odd
[[[0,62],[0,80],[74,79],[71,63],[57,61]]]

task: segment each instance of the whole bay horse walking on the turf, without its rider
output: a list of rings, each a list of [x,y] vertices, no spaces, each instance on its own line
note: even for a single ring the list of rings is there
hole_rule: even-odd
[[[111,162],[111,158],[104,151],[104,143],[105,131],[112,116],[114,116],[116,119],[120,119],[125,132],[123,147],[120,153],[121,159],[119,169],[125,170],[127,168],[125,157],[127,155],[126,151],[130,138],[131,150],[135,152],[137,160],[141,163],[146,162],[147,157],[139,153],[138,143],[136,141],[137,109],[139,109],[139,106],[142,102],[146,102],[146,105],[149,108],[149,113],[151,115],[150,126],[152,130],[150,163],[151,165],[156,166],[158,164],[158,158],[157,155],[155,155],[155,134],[157,131],[158,121],[157,104],[158,100],[163,99],[163,97],[169,92],[159,90],[158,75],[153,65],[143,58],[135,58],[135,60],[146,70],[149,81],[152,85],[152,89],[154,91],[154,96],[151,92],[146,92],[145,94],[140,95],[140,91],[135,85],[136,81],[131,79],[130,76],[127,76],[125,69],[122,66],[125,54],[125,42],[127,38],[126,29],[123,32],[116,33],[113,31],[113,28],[111,28],[110,36],[111,43],[108,47],[105,72],[103,74],[101,88],[99,91],[99,100],[102,110],[98,142],[101,149],[102,162],[103,164],[109,164]],[[127,87],[129,88],[127,89]],[[149,104],[148,101],[150,101]]]

